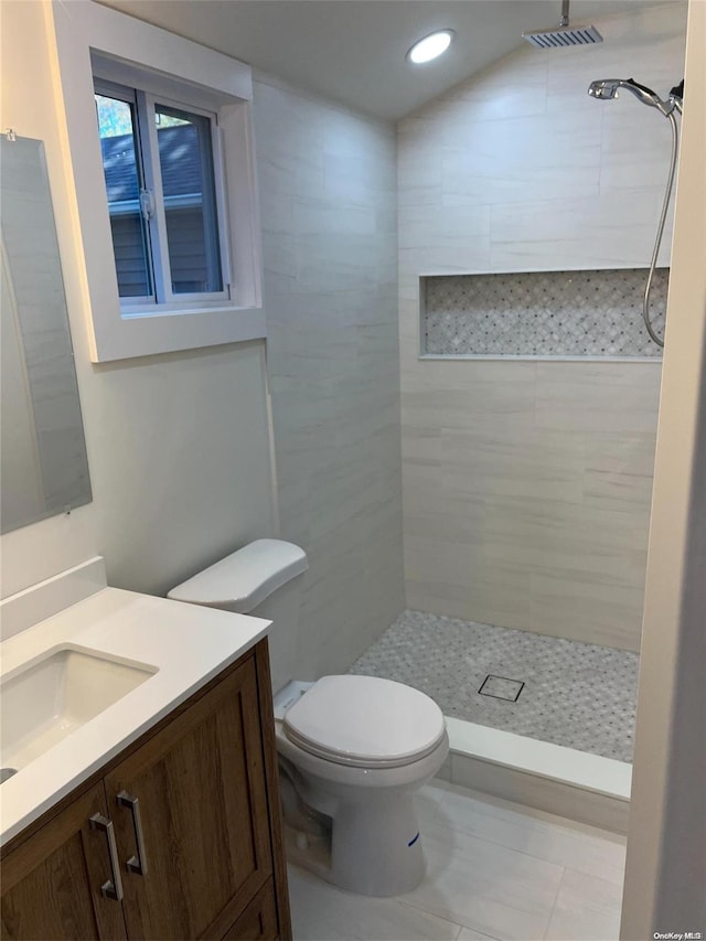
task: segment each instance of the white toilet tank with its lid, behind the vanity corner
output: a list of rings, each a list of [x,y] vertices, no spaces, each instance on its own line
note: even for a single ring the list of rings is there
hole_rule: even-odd
[[[269,655],[272,693],[295,678],[303,549],[282,539],[257,539],[205,568],[168,594],[174,601],[205,605],[272,621]]]

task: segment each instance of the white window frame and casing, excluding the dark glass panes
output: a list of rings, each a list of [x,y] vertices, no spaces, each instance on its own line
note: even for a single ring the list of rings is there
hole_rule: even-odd
[[[249,67],[93,0],[53,0],[51,10],[86,260],[92,360],[106,362],[264,338]],[[224,181],[222,186],[216,183],[222,295],[171,295],[170,280],[169,291],[158,296],[157,303],[154,298],[122,298],[121,302],[94,75],[106,86],[135,89],[145,96],[143,103],[215,116],[214,173]],[[157,135],[156,128],[140,130]],[[154,196],[159,204],[161,194]],[[168,266],[165,270],[169,274]]]

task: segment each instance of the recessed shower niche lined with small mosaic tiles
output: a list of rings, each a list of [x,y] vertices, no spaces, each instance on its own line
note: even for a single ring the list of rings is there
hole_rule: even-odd
[[[442,275],[420,278],[422,356],[659,360],[648,335],[643,268]],[[664,330],[668,268],[654,272]]]

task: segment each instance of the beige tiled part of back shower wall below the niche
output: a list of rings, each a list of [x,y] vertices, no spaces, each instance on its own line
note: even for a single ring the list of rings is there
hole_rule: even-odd
[[[407,603],[639,649],[659,363],[468,365],[403,394]]]

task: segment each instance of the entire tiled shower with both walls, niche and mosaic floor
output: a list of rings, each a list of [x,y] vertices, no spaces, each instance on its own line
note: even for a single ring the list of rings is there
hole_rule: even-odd
[[[629,760],[661,373],[640,306],[670,138],[586,89],[668,89],[672,7],[601,19],[600,46],[518,49],[405,118],[396,193],[385,126],[259,85],[281,526],[312,564],[302,676],[361,657],[448,715]],[[657,324],[670,240],[671,218]],[[510,703],[486,676],[525,686]]]

